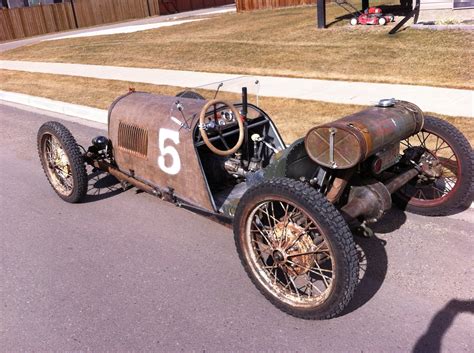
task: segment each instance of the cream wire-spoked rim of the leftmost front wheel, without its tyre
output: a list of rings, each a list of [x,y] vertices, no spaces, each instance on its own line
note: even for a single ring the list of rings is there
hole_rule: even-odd
[[[54,135],[44,134],[42,151],[51,184],[62,195],[71,195],[74,189],[72,167],[63,146]]]

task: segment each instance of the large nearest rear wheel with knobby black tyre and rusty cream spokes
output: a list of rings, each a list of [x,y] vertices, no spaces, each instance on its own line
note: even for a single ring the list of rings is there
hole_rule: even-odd
[[[279,309],[329,319],[351,300],[358,274],[352,234],[310,186],[275,178],[250,188],[236,210],[234,237],[248,276]]]

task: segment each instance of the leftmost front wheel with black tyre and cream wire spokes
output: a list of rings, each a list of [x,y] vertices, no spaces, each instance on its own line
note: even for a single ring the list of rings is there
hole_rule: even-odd
[[[87,173],[70,131],[49,121],[40,127],[37,142],[41,165],[54,191],[64,201],[79,202],[87,192]]]

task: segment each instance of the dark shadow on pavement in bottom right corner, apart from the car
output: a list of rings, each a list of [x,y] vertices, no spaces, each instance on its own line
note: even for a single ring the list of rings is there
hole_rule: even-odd
[[[413,353],[439,353],[441,352],[441,341],[454,319],[461,313],[474,314],[473,300],[450,300],[431,319],[430,326],[413,347]]]

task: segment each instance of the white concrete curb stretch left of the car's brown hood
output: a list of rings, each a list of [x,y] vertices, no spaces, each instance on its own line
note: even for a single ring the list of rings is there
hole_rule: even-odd
[[[107,110],[0,90],[0,100],[107,124]]]

